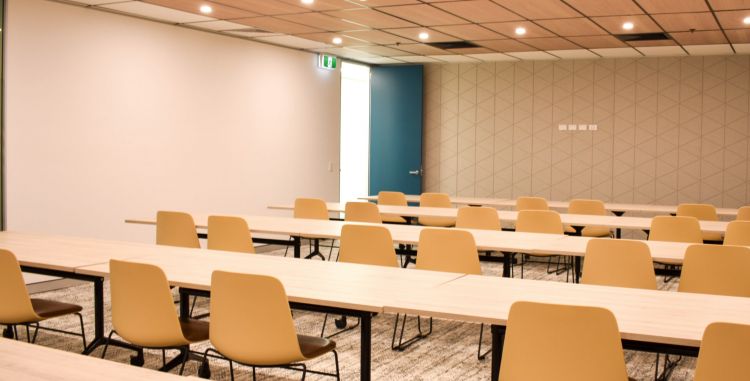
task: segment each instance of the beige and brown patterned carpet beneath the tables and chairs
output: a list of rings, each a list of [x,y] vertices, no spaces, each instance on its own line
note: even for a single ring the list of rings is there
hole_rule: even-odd
[[[303,248],[303,250],[305,250]],[[262,255],[283,255],[284,250],[279,247],[268,246],[263,248]],[[334,252],[335,256],[335,252]],[[546,281],[565,281],[565,274],[547,274],[546,263],[529,263],[525,268],[525,277]],[[500,276],[502,264],[482,263],[485,275]],[[675,290],[679,280],[664,283],[659,279],[659,286],[665,290]],[[106,333],[109,333],[109,289],[105,283],[105,306],[107,316]],[[35,294],[34,297],[50,298],[61,301],[78,303],[84,307],[84,319],[86,322],[87,335],[93,336],[93,287],[89,284],[69,287],[65,289]],[[207,299],[200,299],[196,307],[196,314],[208,309]],[[323,315],[304,311],[294,311],[294,318],[298,331],[309,335],[320,333]],[[333,319],[328,319],[326,333],[330,334],[336,330]],[[477,339],[479,336],[479,325],[461,323],[449,320],[435,320],[433,333],[429,338],[421,340],[409,347],[404,352],[396,352],[390,349],[391,335],[393,330],[394,316],[380,314],[372,320],[372,379],[373,380],[487,380],[490,378],[489,356],[483,361],[477,360]],[[349,324],[353,324],[353,319]],[[46,322],[47,326],[77,331],[78,321],[74,317],[63,317]],[[416,323],[411,318],[407,323],[407,332],[414,332]],[[408,333],[407,333],[408,334]],[[25,340],[25,330],[19,330],[21,339]],[[359,379],[359,330],[354,329],[344,332],[334,338],[339,352],[342,380]],[[66,336],[49,331],[41,331],[37,343],[53,348],[78,352],[81,350],[81,341],[77,337]],[[485,343],[490,344],[488,332],[485,332]],[[203,351],[207,344],[196,345],[194,350]],[[93,356],[99,356],[101,349],[95,351]],[[110,348],[107,358],[112,361],[127,363],[133,352]],[[171,355],[176,354],[173,351]],[[168,353],[168,357],[170,353]],[[148,368],[161,366],[160,351],[146,351],[146,364]],[[640,352],[625,352],[628,373],[632,379],[651,380],[654,378],[655,355]],[[325,355],[321,358],[308,362],[310,369],[328,371],[334,370],[333,356]],[[197,363],[191,361],[185,368],[186,375],[196,375]],[[543,366],[543,364],[540,364]],[[693,378],[695,359],[683,358],[672,374],[672,380],[690,380]],[[211,379],[228,380],[229,368],[226,361],[211,360]],[[175,370],[176,372],[176,370]],[[259,380],[297,380],[301,374],[283,369],[259,369]],[[235,376],[237,380],[252,379],[252,374],[246,367],[235,365]],[[331,379],[330,377],[308,374],[310,380]]]

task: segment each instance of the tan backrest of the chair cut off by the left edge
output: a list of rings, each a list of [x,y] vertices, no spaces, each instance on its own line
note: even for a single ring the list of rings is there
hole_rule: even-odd
[[[0,249],[0,324],[42,320],[31,305],[16,256]]]

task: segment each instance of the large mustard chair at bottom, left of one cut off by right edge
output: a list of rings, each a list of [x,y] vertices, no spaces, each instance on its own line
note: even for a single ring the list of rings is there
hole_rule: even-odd
[[[614,315],[598,307],[513,303],[500,379],[627,381]]]

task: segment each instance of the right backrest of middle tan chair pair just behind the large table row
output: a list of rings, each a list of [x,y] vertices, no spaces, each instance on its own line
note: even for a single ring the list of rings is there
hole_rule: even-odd
[[[482,275],[474,236],[456,229],[422,229],[417,248],[417,268]]]

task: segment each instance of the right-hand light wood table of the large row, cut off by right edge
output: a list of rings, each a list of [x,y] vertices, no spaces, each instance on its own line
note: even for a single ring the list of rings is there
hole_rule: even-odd
[[[497,380],[505,325],[516,301],[607,308],[624,348],[678,355],[697,356],[710,323],[750,324],[750,298],[476,275],[404,294],[385,311],[491,324],[492,380]]]

